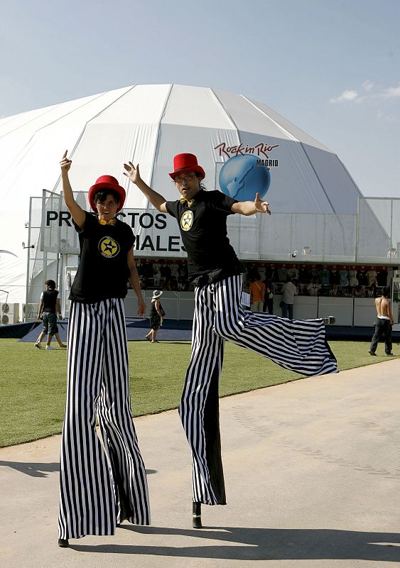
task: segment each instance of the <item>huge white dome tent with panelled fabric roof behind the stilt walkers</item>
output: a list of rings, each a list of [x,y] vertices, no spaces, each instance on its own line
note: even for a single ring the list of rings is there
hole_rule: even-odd
[[[243,95],[179,84],[134,85],[0,119],[0,249],[18,257],[18,268],[14,270],[9,265],[6,281],[3,271],[0,274],[0,288],[12,289],[14,301],[23,302],[26,297],[26,274],[21,273],[26,251],[21,243],[28,241],[25,227],[28,219],[31,222],[28,244],[35,247],[28,249],[31,258],[35,258],[35,251],[43,251],[46,241],[40,228],[43,229],[43,212],[48,214],[48,208],[42,210],[35,202],[30,218],[30,198],[38,197],[41,203],[43,190],[60,193],[59,161],[65,149],[72,159],[73,190],[87,192],[100,175],[114,175],[126,188],[124,220],[132,224],[139,212],[130,212],[128,217],[126,211],[151,212],[152,208],[123,175],[124,162],[139,163],[144,180],[166,199],[175,199],[176,190],[168,177],[173,155],[180,152],[197,155],[205,169],[205,185],[209,190],[220,189],[219,173],[227,160],[236,155],[254,155],[260,160],[260,167],[269,168],[271,185],[266,199],[271,202],[274,214],[268,222],[254,217],[231,220],[229,237],[239,256],[282,261],[293,250],[306,254],[307,246],[315,253],[315,261],[347,259],[352,263],[357,260],[357,254],[363,256],[362,194],[335,153],[265,104]],[[47,219],[58,223],[63,204],[54,204],[53,199],[50,209],[58,219],[53,219],[52,214]],[[374,217],[367,205],[363,204],[362,211],[367,219],[367,236],[373,236],[366,241],[368,251],[364,255],[378,263],[379,258],[386,256],[388,247],[396,243],[391,242],[382,221]],[[161,219],[158,226],[168,229],[162,224],[166,222]],[[36,231],[33,226],[37,227]],[[53,268],[47,269],[47,278],[57,279],[60,253],[77,252],[76,239],[70,244],[74,237],[66,236],[63,233],[66,229],[59,226],[48,237],[57,241],[58,249],[48,246],[53,253],[47,262],[52,260]],[[148,234],[155,243],[155,231],[154,217],[147,224],[134,226],[141,243]],[[178,239],[177,234],[174,229],[172,238]],[[157,242],[158,249],[155,245],[144,249],[138,245],[137,256],[185,256],[178,241],[173,241],[171,250],[167,250],[162,239]],[[372,243],[377,251],[371,250]],[[7,256],[13,258],[15,265],[17,259]],[[40,277],[43,262],[46,260],[38,261],[36,257],[36,262],[31,263],[31,283],[33,278]],[[42,278],[39,279],[38,290]],[[30,301],[38,300],[31,297]]]

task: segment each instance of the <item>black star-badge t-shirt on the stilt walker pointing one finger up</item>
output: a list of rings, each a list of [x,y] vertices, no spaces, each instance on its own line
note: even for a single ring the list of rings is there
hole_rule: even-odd
[[[99,224],[86,212],[85,225],[79,233],[80,263],[71,286],[70,300],[94,303],[110,297],[125,297],[129,278],[127,256],[134,245],[134,234],[127,224]]]

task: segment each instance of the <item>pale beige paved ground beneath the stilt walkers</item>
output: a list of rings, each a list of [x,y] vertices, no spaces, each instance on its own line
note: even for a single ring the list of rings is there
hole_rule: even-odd
[[[221,400],[227,501],[191,528],[175,411],[135,420],[153,525],[57,546],[60,437],[0,450],[0,565],[399,567],[400,372],[391,360]]]

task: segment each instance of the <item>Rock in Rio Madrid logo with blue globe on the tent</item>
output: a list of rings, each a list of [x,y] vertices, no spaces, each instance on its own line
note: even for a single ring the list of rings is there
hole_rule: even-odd
[[[256,192],[264,198],[271,184],[270,168],[277,168],[278,160],[271,159],[269,153],[278,148],[259,143],[255,146],[227,146],[225,142],[215,146],[220,158],[229,158],[220,170],[220,188],[225,195],[239,201],[253,201]]]

